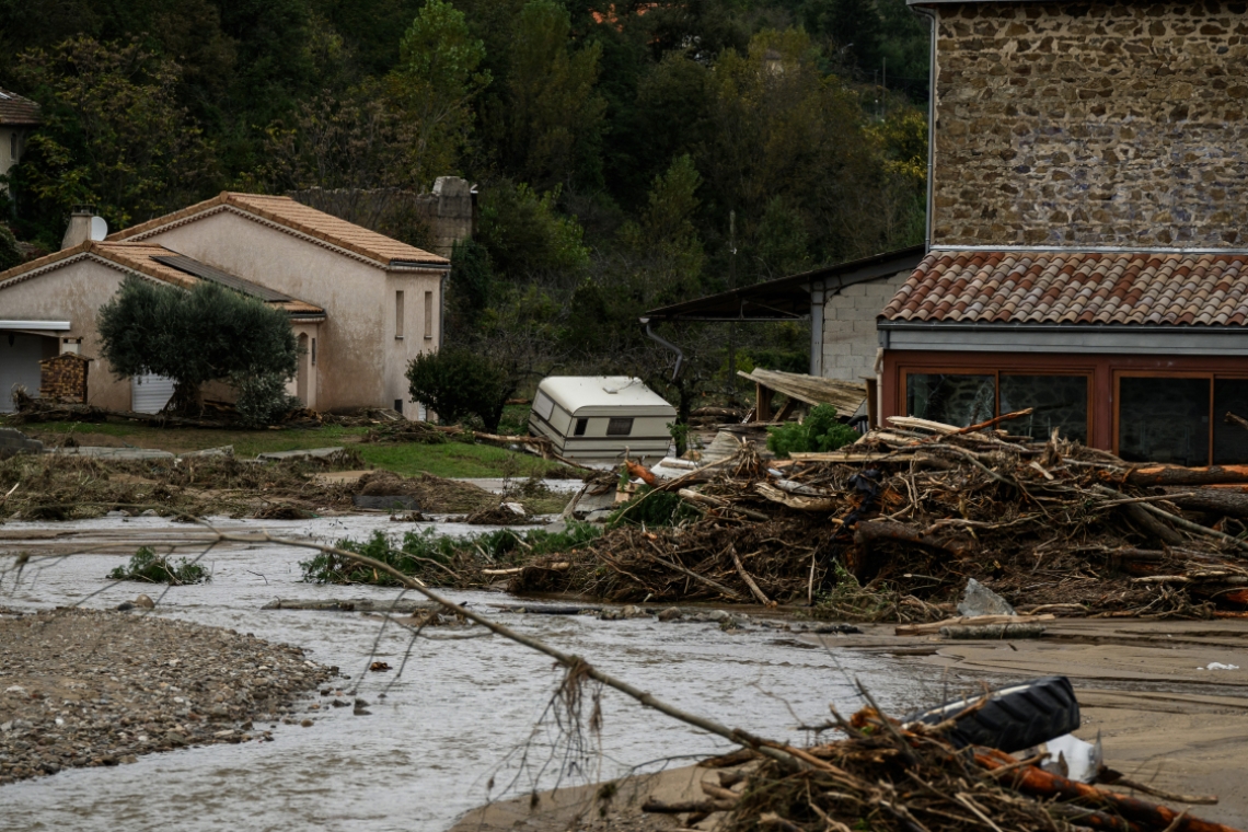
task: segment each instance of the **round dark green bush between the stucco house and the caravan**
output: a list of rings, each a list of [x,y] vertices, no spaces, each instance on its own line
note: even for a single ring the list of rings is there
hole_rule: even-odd
[[[510,374],[489,358],[463,347],[418,356],[407,368],[412,400],[423,402],[444,423],[475,415],[494,433],[503,405],[515,392]]]

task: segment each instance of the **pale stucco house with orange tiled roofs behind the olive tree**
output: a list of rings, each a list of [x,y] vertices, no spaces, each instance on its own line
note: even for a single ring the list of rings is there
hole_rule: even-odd
[[[95,359],[91,404],[158,409],[170,385],[117,379],[99,352],[96,312],[135,274],[180,287],[215,281],[286,309],[305,348],[291,392],[308,407],[419,417],[404,372],[441,343],[444,257],[290,197],[231,192],[86,237],[71,222],[66,248],[0,272],[0,409],[11,407],[12,384],[37,389],[39,360],[62,351]]]

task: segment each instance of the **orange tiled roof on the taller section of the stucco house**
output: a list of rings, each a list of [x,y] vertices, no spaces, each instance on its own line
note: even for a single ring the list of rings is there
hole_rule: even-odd
[[[422,266],[446,267],[451,264],[451,261],[446,257],[439,257],[416,246],[391,239],[376,231],[369,231],[353,222],[347,222],[333,215],[317,211],[290,197],[232,193],[230,191],[223,191],[211,200],[192,205],[181,211],[175,211],[163,217],[156,217],[137,226],[131,226],[125,231],[119,231],[115,235],[110,235],[109,239],[120,241],[140,237],[218,206],[233,207],[238,211],[262,217],[291,231],[297,231],[308,237],[314,237],[316,239],[377,261],[383,266],[418,263]]]

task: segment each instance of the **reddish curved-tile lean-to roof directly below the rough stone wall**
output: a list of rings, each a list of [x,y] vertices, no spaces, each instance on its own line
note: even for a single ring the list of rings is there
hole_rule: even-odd
[[[881,318],[1244,326],[1248,254],[931,252]]]

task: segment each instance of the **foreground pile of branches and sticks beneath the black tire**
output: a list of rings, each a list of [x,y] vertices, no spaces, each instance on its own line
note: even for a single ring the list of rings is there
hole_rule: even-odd
[[[724,832],[1234,832],[1193,817],[1188,808],[1067,780],[1041,768],[1038,757],[1016,758],[983,747],[957,750],[942,735],[947,723],[901,725],[875,709],[850,720],[837,716],[836,723],[846,738],[785,747],[799,766],[765,760],[753,771],[725,768],[703,780],[704,800],[651,800],[643,811],[688,815],[685,827],[716,815],[721,821],[715,828]],[[726,767],[750,756],[745,751],[703,765]]]

